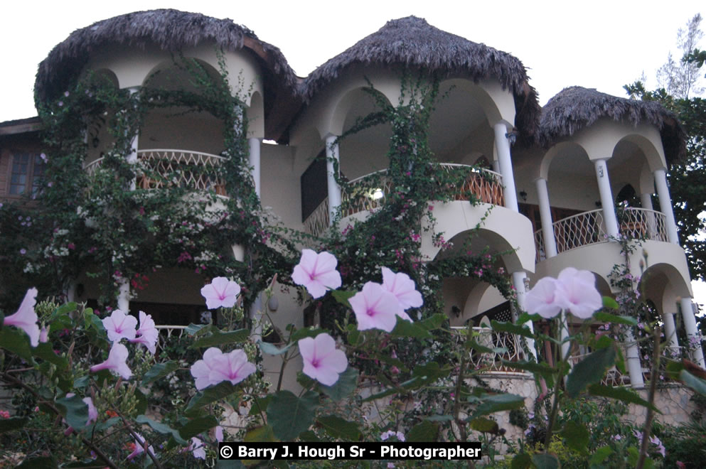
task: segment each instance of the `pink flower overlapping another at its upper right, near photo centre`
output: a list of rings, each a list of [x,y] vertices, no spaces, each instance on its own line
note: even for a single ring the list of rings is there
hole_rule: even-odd
[[[363,291],[355,293],[348,302],[358,320],[358,330],[382,329],[390,332],[395,328],[400,302],[382,285],[369,281],[363,285]]]

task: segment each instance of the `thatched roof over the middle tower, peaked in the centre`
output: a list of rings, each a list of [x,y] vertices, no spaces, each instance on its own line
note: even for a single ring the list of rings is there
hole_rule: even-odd
[[[301,88],[305,101],[355,63],[400,64],[436,72],[442,77],[468,77],[475,82],[498,80],[503,89],[510,90],[515,97],[518,110],[515,124],[520,136],[528,139],[535,132],[540,107],[520,60],[485,44],[434,28],[423,18],[408,16],[387,21],[376,33],[328,60],[306,78]]]

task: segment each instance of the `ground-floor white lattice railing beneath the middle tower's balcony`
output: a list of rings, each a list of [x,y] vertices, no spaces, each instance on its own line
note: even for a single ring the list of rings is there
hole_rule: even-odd
[[[468,330],[468,328],[452,327],[451,330],[454,330],[459,342],[466,339],[465,331]],[[486,372],[517,372],[517,370],[511,367],[503,365],[503,360],[507,362],[519,362],[520,360],[524,360],[523,339],[520,338],[519,335],[497,332],[491,328],[473,328],[473,332],[473,340],[479,345],[491,349],[500,348],[503,349],[503,351],[481,353],[476,350],[471,350],[469,353],[471,367]]]

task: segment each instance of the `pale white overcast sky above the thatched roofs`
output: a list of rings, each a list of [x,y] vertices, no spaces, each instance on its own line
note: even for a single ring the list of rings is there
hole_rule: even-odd
[[[0,122],[36,115],[33,84],[38,63],[78,28],[131,11],[173,8],[231,18],[282,50],[304,77],[385,22],[425,18],[449,33],[515,55],[528,68],[540,104],[564,87],[580,85],[625,96],[623,85],[643,74],[656,86],[656,70],[670,51],[679,58],[679,28],[703,0],[678,0],[659,8],[627,1],[11,1],[0,16]],[[702,29],[706,25],[702,24]],[[700,44],[706,48],[706,40]],[[697,287],[700,303],[706,285]]]

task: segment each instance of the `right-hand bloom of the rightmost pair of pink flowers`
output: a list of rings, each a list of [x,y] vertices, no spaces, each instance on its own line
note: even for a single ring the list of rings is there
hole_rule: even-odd
[[[557,290],[562,306],[577,318],[590,318],[603,306],[603,297],[596,289],[596,279],[590,271],[567,267],[557,277]]]

